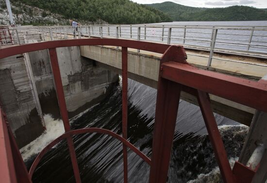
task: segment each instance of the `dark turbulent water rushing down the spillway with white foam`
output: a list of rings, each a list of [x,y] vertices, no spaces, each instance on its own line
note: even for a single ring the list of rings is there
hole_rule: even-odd
[[[131,143],[151,157],[156,90],[130,79],[128,83],[128,137]],[[220,125],[229,160],[233,164],[239,156],[248,128],[217,114],[215,117]],[[119,82],[100,104],[73,119],[71,128],[100,127],[121,134],[121,118]],[[50,134],[55,137],[63,133],[62,121],[53,121],[46,116],[46,123],[52,127],[48,128],[43,139],[49,138]],[[34,144],[41,146],[49,140],[35,141],[21,150],[28,167],[40,149]],[[84,134],[74,136],[74,144],[82,182],[123,182],[122,145],[117,139],[95,133]],[[149,166],[131,150],[128,151],[128,169],[130,183],[148,182]],[[219,182],[218,172],[199,107],[181,100],[168,182]],[[59,143],[42,159],[33,175],[33,182],[75,182],[65,141]]]

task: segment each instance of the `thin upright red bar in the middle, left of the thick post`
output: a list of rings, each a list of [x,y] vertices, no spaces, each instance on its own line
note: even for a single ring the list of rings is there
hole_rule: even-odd
[[[127,47],[121,48],[122,68],[122,137],[127,140],[127,116],[128,116],[128,51]],[[128,155],[127,146],[123,144],[123,175],[124,183],[128,182]]]

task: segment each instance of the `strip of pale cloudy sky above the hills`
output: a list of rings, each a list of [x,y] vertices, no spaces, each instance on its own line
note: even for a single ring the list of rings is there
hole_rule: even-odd
[[[152,4],[152,3],[161,3],[165,1],[172,1],[177,4],[182,4],[185,6],[192,7],[206,7],[206,8],[215,8],[215,7],[227,7],[233,5],[245,5],[253,6],[256,8],[267,8],[267,0],[132,0],[139,4]]]

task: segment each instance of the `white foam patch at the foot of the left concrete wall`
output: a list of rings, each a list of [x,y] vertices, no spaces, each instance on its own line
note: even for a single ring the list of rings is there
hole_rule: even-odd
[[[45,132],[19,150],[24,161],[41,152],[52,140],[65,132],[62,120],[54,120],[50,114],[45,114],[44,121],[46,124]]]

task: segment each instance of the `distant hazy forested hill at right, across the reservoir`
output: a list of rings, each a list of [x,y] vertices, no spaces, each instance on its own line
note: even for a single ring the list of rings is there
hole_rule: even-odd
[[[249,6],[230,6],[226,8],[195,8],[163,2],[146,4],[169,15],[173,21],[249,21],[267,20],[267,10]]]

